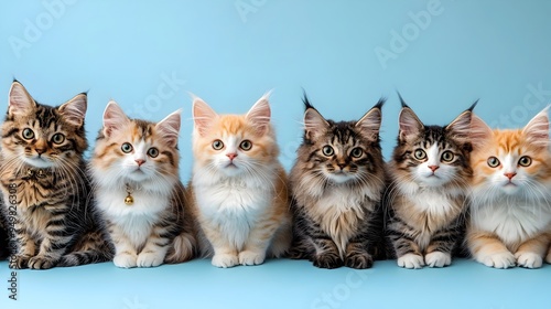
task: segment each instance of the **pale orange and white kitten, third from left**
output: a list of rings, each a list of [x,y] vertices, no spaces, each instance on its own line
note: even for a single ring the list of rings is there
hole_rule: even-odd
[[[202,255],[217,267],[258,265],[291,242],[285,172],[268,95],[247,115],[218,115],[193,102],[195,163],[190,188]]]

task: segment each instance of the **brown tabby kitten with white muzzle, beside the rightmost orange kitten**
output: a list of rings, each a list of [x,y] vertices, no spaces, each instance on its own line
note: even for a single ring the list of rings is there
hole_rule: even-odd
[[[425,126],[400,97],[398,145],[388,163],[386,234],[404,268],[452,263],[464,232],[476,103],[447,126]]]

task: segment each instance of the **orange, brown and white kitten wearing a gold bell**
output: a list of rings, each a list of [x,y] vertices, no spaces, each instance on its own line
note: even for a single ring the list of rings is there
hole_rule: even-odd
[[[105,109],[89,168],[118,267],[194,256],[195,232],[179,178],[180,122],[180,110],[153,124],[128,118],[112,100]]]

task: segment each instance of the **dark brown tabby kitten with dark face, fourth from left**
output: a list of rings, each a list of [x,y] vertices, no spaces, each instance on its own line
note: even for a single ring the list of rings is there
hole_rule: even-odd
[[[290,173],[292,258],[368,268],[380,255],[385,161],[380,99],[357,121],[325,119],[304,94],[304,137]]]

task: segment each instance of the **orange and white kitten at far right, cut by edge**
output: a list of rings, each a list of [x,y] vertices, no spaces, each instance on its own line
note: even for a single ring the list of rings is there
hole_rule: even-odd
[[[551,241],[547,108],[522,129],[491,130],[473,117],[475,150],[467,246],[496,268],[541,267]],[[551,263],[551,256],[547,260]]]

